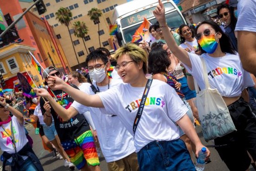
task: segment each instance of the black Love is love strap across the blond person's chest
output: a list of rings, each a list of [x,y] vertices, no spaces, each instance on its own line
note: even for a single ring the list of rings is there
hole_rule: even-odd
[[[135,135],[135,132],[136,132],[136,129],[137,129],[137,126],[138,126],[138,122],[139,122],[140,117],[142,115],[142,112],[143,112],[143,109],[144,109],[144,105],[145,105],[145,102],[146,102],[146,99],[147,99],[147,96],[148,96],[148,92],[149,92],[151,83],[152,83],[152,79],[148,79],[148,82],[146,84],[146,87],[144,89],[144,92],[143,92],[143,95],[142,95],[142,98],[141,98],[141,101],[140,101],[140,104],[139,104],[139,107],[138,107],[137,115],[136,115],[134,123],[133,123],[133,137]]]

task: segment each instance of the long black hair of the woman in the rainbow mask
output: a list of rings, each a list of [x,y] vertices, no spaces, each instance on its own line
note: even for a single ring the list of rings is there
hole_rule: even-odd
[[[196,28],[196,33],[197,33],[197,30],[198,28],[203,25],[203,24],[209,24],[213,30],[215,30],[215,32],[219,32],[222,34],[221,38],[219,39],[219,43],[220,43],[220,48],[221,48],[221,51],[222,52],[225,52],[225,53],[230,53],[230,54],[234,54],[236,55],[236,50],[233,48],[233,46],[231,45],[231,42],[230,42],[230,38],[222,31],[222,29],[220,28],[220,26],[215,23],[214,21],[212,20],[207,20],[207,21],[203,21],[202,23],[198,24],[197,25],[197,28]],[[200,46],[200,44],[198,43],[198,47],[199,49],[201,50],[202,54],[203,53],[206,53],[202,47]]]

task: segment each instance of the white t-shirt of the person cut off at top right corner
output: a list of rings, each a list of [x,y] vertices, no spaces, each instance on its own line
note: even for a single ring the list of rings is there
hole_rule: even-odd
[[[239,0],[235,31],[256,32],[256,0]]]

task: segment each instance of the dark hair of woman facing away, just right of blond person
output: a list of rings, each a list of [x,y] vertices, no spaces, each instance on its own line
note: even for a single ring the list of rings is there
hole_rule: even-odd
[[[160,46],[151,49],[148,56],[148,72],[152,74],[166,72],[171,64],[167,52]]]

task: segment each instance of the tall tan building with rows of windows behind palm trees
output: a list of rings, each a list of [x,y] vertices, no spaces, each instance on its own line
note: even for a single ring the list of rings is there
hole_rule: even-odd
[[[27,8],[33,2],[33,0],[19,1],[23,8]],[[109,36],[109,25],[112,24],[112,13],[115,6],[126,2],[127,0],[44,0],[47,9],[44,16],[48,23],[53,26],[56,37],[59,39],[59,42],[61,43],[67,57],[67,61],[73,70],[76,68],[85,67],[84,62],[86,56],[88,55],[87,52],[90,53],[99,47],[98,34],[100,35],[101,47],[112,49]],[[57,12],[60,7],[66,7],[72,12],[72,21],[69,25],[69,30],[65,25],[60,24],[58,20],[56,20],[55,12]],[[102,11],[102,16],[99,18],[99,32],[98,23],[90,20],[90,17],[87,16],[88,11],[93,7]],[[38,15],[35,7],[31,11],[35,15]],[[73,23],[75,21],[83,21],[88,27],[88,34],[84,37],[85,45],[81,38],[74,36]],[[69,33],[71,34],[72,41]],[[71,43],[74,44],[75,52]],[[78,60],[76,59],[76,55]]]

